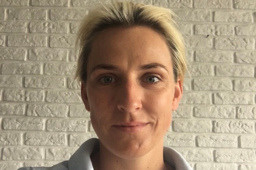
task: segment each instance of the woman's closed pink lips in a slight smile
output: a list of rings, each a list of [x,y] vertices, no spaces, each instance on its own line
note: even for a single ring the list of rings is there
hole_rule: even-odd
[[[124,132],[124,133],[138,133],[149,123],[144,122],[128,122],[128,123],[119,123],[113,125],[114,128]]]

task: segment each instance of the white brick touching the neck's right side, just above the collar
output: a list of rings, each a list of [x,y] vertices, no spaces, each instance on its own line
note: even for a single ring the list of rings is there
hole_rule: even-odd
[[[165,146],[195,147],[195,136],[192,135],[165,135]]]

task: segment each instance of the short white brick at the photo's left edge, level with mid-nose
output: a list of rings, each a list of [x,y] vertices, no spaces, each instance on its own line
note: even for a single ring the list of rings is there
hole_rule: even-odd
[[[3,100],[14,101],[14,102],[25,102],[25,91],[24,90],[4,90]]]

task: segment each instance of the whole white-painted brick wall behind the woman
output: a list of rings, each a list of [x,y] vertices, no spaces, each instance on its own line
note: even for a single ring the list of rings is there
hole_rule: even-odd
[[[72,76],[97,0],[0,0],[0,170],[52,166],[96,137]],[[136,0],[173,9],[189,72],[165,137],[194,170],[256,169],[256,1]]]

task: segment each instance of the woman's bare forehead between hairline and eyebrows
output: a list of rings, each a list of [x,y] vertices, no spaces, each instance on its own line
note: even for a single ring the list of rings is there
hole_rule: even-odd
[[[143,26],[114,27],[98,33],[91,45],[88,71],[96,64],[132,66],[147,63],[171,63],[165,39]]]

